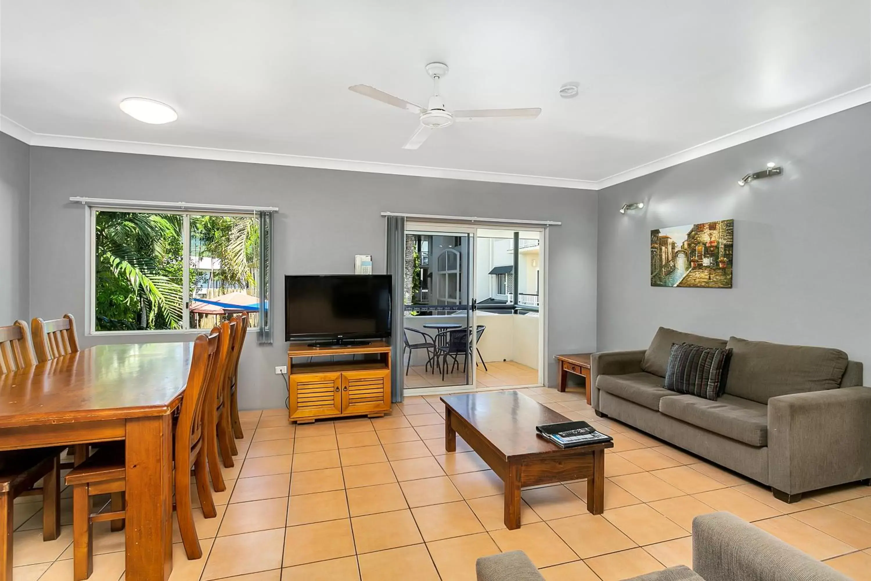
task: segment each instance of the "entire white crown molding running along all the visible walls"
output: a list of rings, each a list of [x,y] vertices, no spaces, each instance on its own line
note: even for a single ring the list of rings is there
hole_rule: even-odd
[[[807,105],[796,111],[790,111],[778,117],[768,119],[756,125],[751,125],[722,137],[711,139],[703,144],[695,145],[681,152],[672,153],[664,158],[655,159],[641,166],[633,167],[625,172],[615,173],[604,179],[568,179],[548,176],[532,176],[516,173],[477,172],[474,170],[459,170],[443,167],[404,166],[401,164],[386,164],[375,161],[354,161],[351,159],[314,158],[286,153],[246,152],[232,149],[216,149],[211,147],[195,147],[191,145],[165,145],[144,143],[138,141],[122,141],[116,139],[99,139],[73,137],[68,135],[51,135],[32,132],[12,119],[0,115],[0,132],[24,141],[28,145],[40,147],[61,147],[66,149],[83,149],[97,152],[136,153],[139,155],[159,155],[171,158],[213,159],[219,161],[235,161],[240,163],[267,164],[270,166],[313,167],[347,172],[388,173],[422,178],[470,179],[503,184],[519,184],[526,186],[566,187],[579,190],[601,190],[606,187],[640,178],[648,173],[658,172],[667,167],[677,166],[708,155],[713,152],[740,145],[753,139],[758,139],[780,132],[796,125],[826,117],[834,113],[850,109],[857,105],[871,102],[871,84],[861,86],[853,91],[847,91],[833,98],[827,98],[814,105]]]

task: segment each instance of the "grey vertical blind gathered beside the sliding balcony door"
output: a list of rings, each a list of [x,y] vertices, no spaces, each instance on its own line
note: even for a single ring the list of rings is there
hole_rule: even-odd
[[[390,385],[393,401],[402,402],[402,324],[405,320],[405,216],[387,217],[387,274],[393,275],[392,332],[390,355],[393,361]]]

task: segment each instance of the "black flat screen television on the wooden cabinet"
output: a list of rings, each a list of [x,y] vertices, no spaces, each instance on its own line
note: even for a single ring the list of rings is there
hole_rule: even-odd
[[[285,341],[348,344],[390,337],[390,274],[287,274]]]

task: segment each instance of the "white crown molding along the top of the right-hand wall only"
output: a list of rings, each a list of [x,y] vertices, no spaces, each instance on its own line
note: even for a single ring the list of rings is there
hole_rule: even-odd
[[[871,84],[866,84],[853,91],[847,91],[846,93],[841,93],[841,95],[827,98],[819,103],[814,103],[814,105],[807,105],[801,109],[784,113],[756,125],[750,125],[737,132],[728,133],[722,137],[706,141],[703,144],[694,145],[682,152],[672,153],[665,156],[665,158],[655,159],[625,172],[615,173],[607,178],[599,179],[596,182],[596,186],[599,190],[616,186],[630,179],[640,178],[648,173],[658,172],[666,167],[677,166],[685,161],[697,159],[709,153],[719,152],[729,147],[746,143],[747,141],[753,141],[753,139],[771,135],[772,133],[782,132],[790,127],[814,121],[814,119],[826,117],[827,115],[833,115],[834,113],[845,111],[858,105],[864,105],[868,102],[871,102]]]

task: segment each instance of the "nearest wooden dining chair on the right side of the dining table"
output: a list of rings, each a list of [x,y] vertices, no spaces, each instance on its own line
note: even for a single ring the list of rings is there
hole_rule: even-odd
[[[193,523],[191,470],[203,514],[206,518],[217,516],[207,482],[203,436],[208,431],[208,424],[204,422],[204,404],[207,386],[213,381],[213,375],[218,373],[218,355],[221,343],[225,340],[226,337],[213,332],[208,335],[200,334],[193,341],[191,369],[187,375],[179,420],[175,428],[175,510],[179,518],[181,540],[189,559],[203,556]],[[71,470],[65,480],[72,486],[73,579],[82,581],[91,577],[93,572],[93,524],[101,521],[117,523],[126,516],[123,503],[120,506],[109,503],[108,511],[103,506],[96,512],[91,512],[91,497],[125,491],[124,443],[102,446],[84,463]]]

